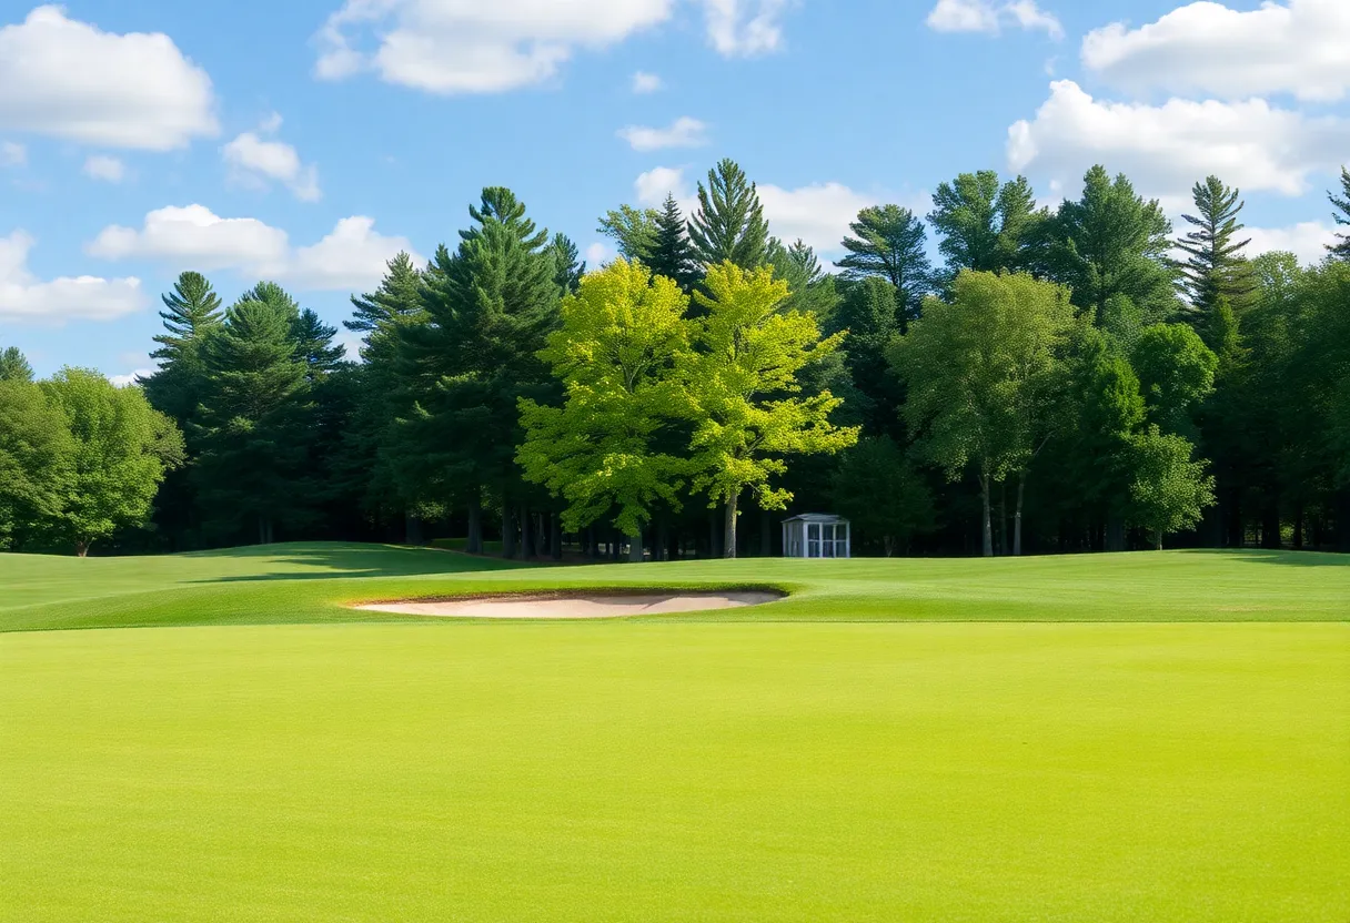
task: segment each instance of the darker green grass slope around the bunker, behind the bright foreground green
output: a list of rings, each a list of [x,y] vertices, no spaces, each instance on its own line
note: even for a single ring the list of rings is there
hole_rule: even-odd
[[[140,559],[0,555],[0,632],[408,621],[354,602],[597,587],[768,586],[763,609],[679,621],[1339,621],[1350,557],[1143,552],[1026,559],[678,561],[522,568],[452,552],[275,545]]]

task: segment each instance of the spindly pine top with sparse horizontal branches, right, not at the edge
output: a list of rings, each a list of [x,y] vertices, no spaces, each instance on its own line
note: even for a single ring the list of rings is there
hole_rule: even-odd
[[[1239,240],[1243,225],[1238,215],[1246,204],[1239,192],[1223,185],[1218,177],[1195,184],[1195,215],[1184,215],[1195,231],[1176,242],[1187,254],[1181,263],[1181,287],[1191,300],[1192,310],[1207,317],[1219,298],[1243,306],[1256,290],[1251,267],[1242,255],[1250,239]]]

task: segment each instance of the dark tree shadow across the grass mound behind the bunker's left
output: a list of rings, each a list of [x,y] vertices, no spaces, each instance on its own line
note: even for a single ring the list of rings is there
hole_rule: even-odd
[[[256,545],[193,552],[198,560],[219,560],[238,567],[248,559],[265,559],[269,569],[256,574],[223,574],[193,583],[252,583],[259,580],[332,580],[342,578],[425,576],[502,571],[524,567],[518,561],[493,560],[456,552],[429,551],[400,545],[350,545],[340,542],[305,542]],[[224,569],[224,568],[223,568]]]

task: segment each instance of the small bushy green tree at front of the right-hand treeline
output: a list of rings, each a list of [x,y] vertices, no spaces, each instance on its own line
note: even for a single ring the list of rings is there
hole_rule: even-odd
[[[1184,437],[1164,433],[1157,425],[1134,436],[1134,483],[1130,486],[1131,520],[1149,529],[1158,551],[1170,532],[1193,528],[1214,503],[1214,478],[1204,462],[1192,462],[1195,447]]]

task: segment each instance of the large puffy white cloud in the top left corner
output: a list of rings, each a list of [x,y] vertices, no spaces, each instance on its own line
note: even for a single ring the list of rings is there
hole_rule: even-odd
[[[163,151],[215,135],[211,78],[162,32],[117,35],[38,7],[0,28],[0,127]]]

